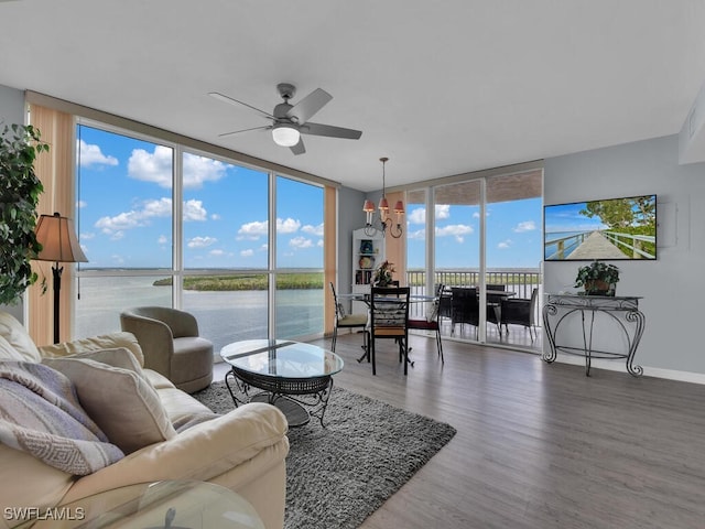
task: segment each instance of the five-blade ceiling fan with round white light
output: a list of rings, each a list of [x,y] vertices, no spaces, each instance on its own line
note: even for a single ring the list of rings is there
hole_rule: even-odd
[[[282,147],[289,147],[294,154],[303,154],[306,152],[303,139],[301,134],[312,136],[326,136],[329,138],[343,138],[347,140],[358,140],[362,132],[359,130],[345,129],[343,127],[334,127],[332,125],[313,123],[308,121],[318,110],[333,99],[333,96],[326,90],[316,88],[306,97],[304,97],[296,105],[291,105],[289,100],[294,97],[296,87],[289,83],[280,83],[276,85],[279,95],[284,99],[284,102],[280,102],[274,107],[272,114],[260,110],[247,102],[238,101],[229,96],[225,96],[217,91],[212,91],[208,95],[230,105],[246,106],[260,116],[267,119],[271,119],[271,125],[262,127],[253,127],[250,129],[235,130],[232,132],[225,132],[218,134],[219,137],[237,134],[240,132],[247,132],[249,130],[271,130],[274,143]]]

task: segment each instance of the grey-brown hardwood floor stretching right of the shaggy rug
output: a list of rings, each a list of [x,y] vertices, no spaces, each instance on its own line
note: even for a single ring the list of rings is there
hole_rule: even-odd
[[[705,527],[705,386],[422,336],[404,377],[388,342],[372,377],[339,336],[335,384],[458,433],[362,528]]]

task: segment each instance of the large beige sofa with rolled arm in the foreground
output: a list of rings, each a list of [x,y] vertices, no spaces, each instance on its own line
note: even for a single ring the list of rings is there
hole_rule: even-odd
[[[129,361],[137,366],[133,369],[134,374],[123,365],[119,368],[108,366],[113,357],[122,360],[129,358]],[[1,311],[0,360],[32,363],[30,368],[41,363],[42,366],[59,371],[62,365],[98,369],[101,374],[113,370],[130,382],[112,388],[123,392],[131,390],[132,384],[142,385],[141,391],[144,392],[143,386],[147,384],[147,393],[156,393],[155,401],[160,403],[158,408],[163,407],[163,410],[156,411],[163,411],[171,422],[162,424],[163,430],[173,432],[166,434],[169,439],[160,442],[142,447],[130,446],[130,450],[124,451],[127,455],[119,461],[80,476],[50,466],[22,450],[0,444],[0,504],[3,509],[51,508],[131,484],[196,479],[212,482],[240,494],[252,504],[268,529],[283,526],[289,440],[286,419],[276,408],[264,403],[250,403],[224,415],[214,414],[193,397],[176,389],[162,375],[141,368],[142,353],[130,333],[113,333],[37,348],[22,324]],[[95,360],[99,360],[99,364]],[[10,368],[26,366],[14,361],[2,364]],[[42,366],[35,369],[46,370]],[[84,401],[93,401],[93,398],[82,398],[82,391],[95,391],[91,384],[93,387],[99,387],[102,382],[100,377],[87,376],[75,381],[82,404]],[[104,391],[95,393],[98,396]],[[131,395],[123,393],[123,397],[113,400],[128,401]],[[0,402],[0,406],[4,403]],[[95,408],[95,403],[93,406]],[[104,406],[116,408],[112,402]],[[89,407],[84,408],[88,411]],[[110,419],[126,412],[126,419],[133,420],[132,410],[120,410],[119,406],[117,408],[110,411],[113,414]],[[94,409],[93,414],[88,412],[91,419],[95,414],[100,415],[100,406],[97,410]],[[98,419],[105,424],[107,418]],[[193,425],[188,425],[189,423]],[[106,425],[108,428],[104,430],[112,443],[115,441],[108,434],[108,431],[111,431],[110,424]],[[173,425],[175,429],[172,429]],[[124,433],[120,429],[116,432],[116,435]],[[122,440],[126,441],[135,443],[139,439],[133,436]],[[17,520],[3,517],[0,527],[3,523],[6,527],[12,527],[17,525]]]

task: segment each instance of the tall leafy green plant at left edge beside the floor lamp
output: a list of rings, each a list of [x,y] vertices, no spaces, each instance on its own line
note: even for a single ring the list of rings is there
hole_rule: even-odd
[[[0,137],[0,304],[15,304],[37,279],[30,261],[42,249],[34,234],[44,191],[34,173],[34,159],[42,151],[48,151],[48,145],[31,125],[4,127]]]

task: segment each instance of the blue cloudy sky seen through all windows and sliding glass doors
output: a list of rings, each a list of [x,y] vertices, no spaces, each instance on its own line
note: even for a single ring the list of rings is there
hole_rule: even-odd
[[[80,126],[82,268],[171,268],[172,149]],[[185,154],[184,267],[265,269],[267,173]],[[276,262],[323,268],[323,188],[278,177]],[[425,207],[406,205],[408,267],[423,268]],[[436,268],[479,266],[479,207],[436,205]],[[360,206],[360,226],[365,214]],[[487,266],[538,268],[541,198],[487,206]]]

